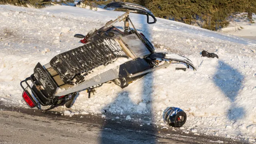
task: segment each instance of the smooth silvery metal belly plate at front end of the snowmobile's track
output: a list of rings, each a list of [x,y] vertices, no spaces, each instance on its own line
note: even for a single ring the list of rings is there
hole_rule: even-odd
[[[130,51],[136,56],[136,58],[145,57],[150,55],[150,51],[138,38],[136,34],[129,34],[121,38]]]

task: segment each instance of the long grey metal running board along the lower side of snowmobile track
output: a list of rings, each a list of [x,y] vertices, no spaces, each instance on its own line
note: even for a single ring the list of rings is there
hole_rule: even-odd
[[[60,92],[58,94],[56,94],[55,96],[64,96],[73,92],[78,92],[80,90],[84,90],[86,88],[90,88],[91,86],[95,86],[97,84],[102,84],[105,82],[108,82],[110,80],[114,80],[116,78],[118,78],[118,68],[113,68],[110,69],[106,72],[103,72],[101,74],[98,74],[97,76],[94,76],[92,78],[90,78],[89,80],[86,80],[72,88],[69,88],[68,90],[64,90],[63,92]]]

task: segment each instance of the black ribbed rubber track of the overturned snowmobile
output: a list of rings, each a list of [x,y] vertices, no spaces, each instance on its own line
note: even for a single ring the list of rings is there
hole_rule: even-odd
[[[58,54],[52,58],[50,65],[58,72],[63,82],[68,83],[76,74],[96,68],[119,57],[128,58],[115,40],[105,38]]]

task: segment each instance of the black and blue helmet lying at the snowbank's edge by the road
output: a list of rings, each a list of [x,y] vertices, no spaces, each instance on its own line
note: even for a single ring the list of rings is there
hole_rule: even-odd
[[[186,113],[180,108],[170,107],[164,114],[164,122],[169,126],[181,127],[187,120]]]

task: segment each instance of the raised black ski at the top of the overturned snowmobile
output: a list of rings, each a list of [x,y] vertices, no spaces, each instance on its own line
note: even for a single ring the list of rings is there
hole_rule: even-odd
[[[132,3],[128,3],[128,2],[112,2],[112,3],[107,4],[105,6],[105,8],[125,8],[125,9],[128,9],[128,10],[136,10],[136,11],[139,11],[139,12],[143,12],[147,16],[148,24],[156,23],[156,18],[154,16],[154,14],[150,10],[145,8],[144,6],[140,6],[138,4],[132,4]],[[153,22],[149,22],[149,16],[148,15],[150,15],[154,19]]]

